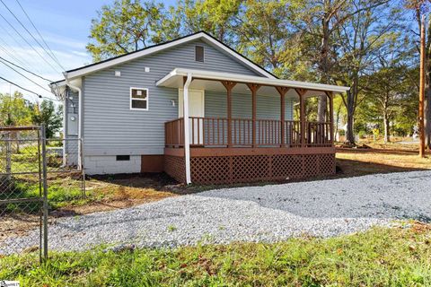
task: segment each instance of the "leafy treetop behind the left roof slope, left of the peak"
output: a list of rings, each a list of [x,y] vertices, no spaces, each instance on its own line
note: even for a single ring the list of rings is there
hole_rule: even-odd
[[[139,0],[115,0],[103,5],[92,19],[87,50],[94,62],[178,38],[180,26],[163,4]]]

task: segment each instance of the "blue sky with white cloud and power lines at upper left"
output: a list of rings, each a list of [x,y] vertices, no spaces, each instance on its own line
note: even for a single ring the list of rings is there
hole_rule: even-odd
[[[103,4],[111,4],[113,0],[1,0],[0,57],[3,57],[13,64],[21,65],[48,80],[57,81],[63,79],[61,74],[63,69],[57,65],[51,57],[48,57],[47,53],[40,48],[38,43],[31,38],[31,35],[22,28],[21,24],[13,17],[13,14],[8,11],[2,2],[15,14],[24,27],[30,30],[34,38],[44,46],[37,31],[34,30],[31,22],[22,11],[19,5],[21,4],[31,21],[40,31],[48,47],[52,50],[55,57],[57,57],[59,64],[63,66],[65,70],[70,70],[81,65],[92,63],[92,57],[85,49],[85,45],[89,41],[88,35],[90,34],[91,21],[92,18],[97,16],[97,11],[100,10]],[[175,0],[160,2],[168,6],[174,4]],[[12,24],[13,28],[18,32],[13,30],[8,22]],[[19,34],[21,34],[22,37],[20,37]],[[39,54],[45,58],[45,60],[42,59]],[[22,70],[13,65],[11,66],[36,83],[31,83],[30,80],[17,74],[2,62],[0,62],[0,76],[21,85],[23,88],[35,91],[43,97],[55,99],[53,94],[45,90],[49,90],[48,81],[22,72]],[[0,79],[0,92],[9,91],[22,90]],[[38,100],[36,95],[28,91],[22,92],[27,100]]]

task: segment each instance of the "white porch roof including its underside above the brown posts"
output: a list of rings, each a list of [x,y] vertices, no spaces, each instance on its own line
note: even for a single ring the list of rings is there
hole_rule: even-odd
[[[348,87],[320,84],[320,83],[308,83],[308,82],[297,82],[289,80],[269,79],[259,76],[251,76],[246,74],[229,74],[219,73],[205,70],[193,70],[193,69],[173,69],[171,73],[165,75],[159,80],[156,85],[170,88],[182,88],[184,76],[191,74],[193,78],[190,83],[190,89],[207,90],[207,91],[223,91],[225,92],[224,85],[220,81],[232,81],[237,82],[233,91],[240,93],[250,93],[251,91],[247,87],[246,83],[258,83],[262,87],[259,89],[258,94],[271,95],[278,94],[275,86],[293,88],[286,93],[287,97],[297,97],[295,88],[306,89],[305,97],[313,97],[324,94],[325,91],[333,91],[336,93],[348,91]]]

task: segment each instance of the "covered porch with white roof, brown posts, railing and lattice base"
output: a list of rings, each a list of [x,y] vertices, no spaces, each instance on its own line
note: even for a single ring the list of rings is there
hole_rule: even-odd
[[[335,173],[333,95],[346,87],[189,69],[175,69],[157,85],[180,91],[179,118],[164,126],[164,170],[180,182],[224,184]],[[216,92],[217,108],[200,112],[195,91]],[[241,101],[233,102],[234,95],[242,95]],[[307,117],[312,97],[327,99],[324,121]]]

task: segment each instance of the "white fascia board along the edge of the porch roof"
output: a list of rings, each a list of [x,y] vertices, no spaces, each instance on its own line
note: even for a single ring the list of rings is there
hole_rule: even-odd
[[[167,81],[169,81],[175,76],[187,76],[188,74],[192,74],[194,78],[199,78],[199,79],[233,81],[238,83],[258,83],[262,85],[284,86],[289,88],[301,88],[301,89],[315,90],[315,91],[345,92],[350,90],[349,87],[336,86],[331,84],[268,79],[265,77],[251,76],[246,74],[218,73],[218,72],[205,71],[205,70],[193,70],[193,69],[182,69],[182,68],[176,68],[172,70],[171,73],[165,75],[161,80],[157,81],[156,85],[163,86],[164,83],[166,83]]]

